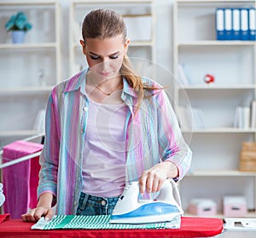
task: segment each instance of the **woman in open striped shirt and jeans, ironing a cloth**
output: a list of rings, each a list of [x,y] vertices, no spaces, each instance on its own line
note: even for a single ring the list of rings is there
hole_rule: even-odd
[[[131,181],[154,193],[189,170],[191,151],[165,91],[131,70],[122,17],[93,10],[82,34],[89,68],[49,96],[38,206],[24,221],[48,220],[55,205],[57,214],[110,214]]]

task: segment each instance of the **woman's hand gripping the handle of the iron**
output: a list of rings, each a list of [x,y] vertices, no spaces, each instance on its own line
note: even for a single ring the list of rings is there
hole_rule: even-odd
[[[144,194],[145,190],[147,193],[158,192],[166,179],[177,176],[177,166],[170,161],[154,165],[148,171],[143,171],[139,179],[140,193]]]

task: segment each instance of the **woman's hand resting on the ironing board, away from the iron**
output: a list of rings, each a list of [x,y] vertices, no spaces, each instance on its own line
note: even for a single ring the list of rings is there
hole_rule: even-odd
[[[40,218],[44,217],[45,221],[49,221],[54,212],[51,207],[38,206],[31,211],[22,214],[21,218],[24,222],[37,222]]]

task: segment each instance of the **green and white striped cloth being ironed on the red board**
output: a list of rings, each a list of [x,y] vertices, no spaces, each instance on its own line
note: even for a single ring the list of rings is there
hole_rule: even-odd
[[[179,229],[181,216],[168,223],[112,224],[109,220],[110,215],[55,215],[49,222],[40,218],[32,229]]]

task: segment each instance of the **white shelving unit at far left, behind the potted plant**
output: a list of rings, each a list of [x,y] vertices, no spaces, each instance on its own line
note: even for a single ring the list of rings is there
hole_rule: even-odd
[[[19,11],[27,15],[32,30],[24,44],[13,44],[4,25]],[[0,3],[0,148],[38,134],[33,130],[37,113],[61,82],[60,18],[56,1]]]

